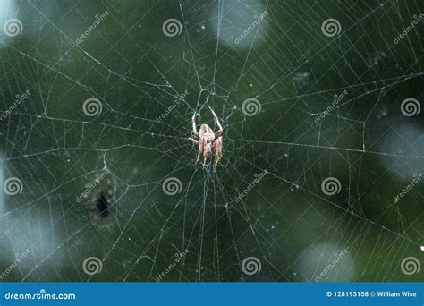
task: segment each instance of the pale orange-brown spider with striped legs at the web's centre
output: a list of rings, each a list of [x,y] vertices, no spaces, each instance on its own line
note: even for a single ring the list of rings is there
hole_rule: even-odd
[[[222,133],[223,127],[221,123],[219,123],[219,119],[215,114],[214,110],[210,108],[212,115],[215,117],[216,125],[219,130],[214,132],[208,124],[201,124],[199,132],[196,131],[196,122],[194,118],[196,117],[196,113],[191,118],[191,122],[193,123],[193,133],[194,138],[190,138],[195,144],[199,144],[198,157],[196,159],[196,163],[199,161],[200,155],[203,153],[203,166],[206,164],[206,160],[210,156],[212,151],[215,151],[215,165],[214,172],[216,171],[216,166],[218,165],[219,159],[223,156],[223,140]]]

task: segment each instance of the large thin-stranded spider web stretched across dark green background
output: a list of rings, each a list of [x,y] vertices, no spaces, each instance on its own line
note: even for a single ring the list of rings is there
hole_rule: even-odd
[[[394,201],[424,172],[422,114],[401,111],[424,97],[423,22],[394,43],[422,2],[0,5],[23,26],[0,39],[0,173],[22,183],[2,195],[0,268],[30,251],[4,279],[422,279],[400,267],[422,262],[422,182]],[[321,30],[330,18],[337,35]],[[181,33],[165,35],[169,19]],[[189,140],[193,114],[216,131],[209,106],[224,127],[216,173]],[[330,195],[327,178],[340,183]],[[98,192],[102,223],[88,208]]]

